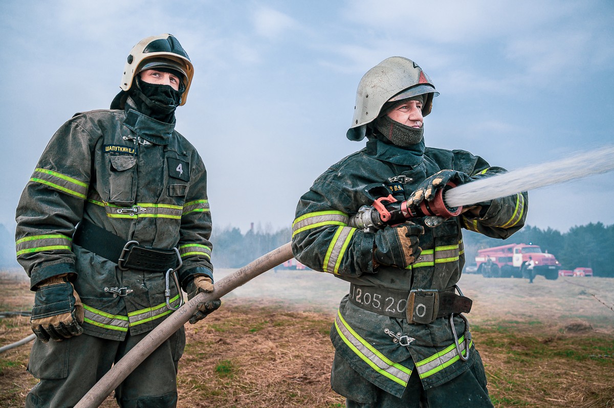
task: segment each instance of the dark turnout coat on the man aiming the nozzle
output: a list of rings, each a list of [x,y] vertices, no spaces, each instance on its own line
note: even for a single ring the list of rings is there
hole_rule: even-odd
[[[454,379],[480,356],[472,352],[473,341],[467,341],[469,360],[459,358],[449,318],[437,318],[430,324],[410,324],[405,318],[379,314],[377,311],[383,309],[401,312],[406,301],[378,298],[377,294],[367,297],[369,291],[364,287],[406,292],[454,290],[465,262],[462,229],[505,239],[524,225],[527,214],[527,194],[522,193],[482,203],[480,217],[465,212],[435,228],[426,226],[424,218],[416,218],[412,221],[424,226],[425,231],[419,237],[422,253],[416,262],[406,269],[392,266],[374,269],[373,240],[377,232],[348,226],[349,217],[360,206],[373,204],[365,188],[383,183],[394,198],[402,201],[419,183],[441,169],[465,172],[474,180],[505,171],[463,150],[425,148],[424,142],[409,150],[371,139],[365,148],[334,164],[316,179],[298,202],[293,223],[292,249],[301,263],[363,287],[341,300],[330,334],[335,360],[343,358],[363,378],[397,397],[403,394],[414,370],[428,389]],[[350,296],[354,296],[354,302],[349,301]],[[356,303],[370,303],[371,310]],[[465,356],[462,336],[465,323],[454,317],[454,325]],[[414,340],[401,345],[386,329]],[[337,380],[348,383],[347,379]],[[333,377],[332,381],[335,389],[336,379]]]

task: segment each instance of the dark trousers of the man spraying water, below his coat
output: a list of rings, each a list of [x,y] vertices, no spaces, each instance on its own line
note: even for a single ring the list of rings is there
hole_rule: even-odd
[[[330,382],[333,391],[346,397],[347,408],[492,408],[484,366],[477,357],[470,369],[428,390],[424,390],[418,371],[414,370],[401,398],[363,379],[337,355]]]

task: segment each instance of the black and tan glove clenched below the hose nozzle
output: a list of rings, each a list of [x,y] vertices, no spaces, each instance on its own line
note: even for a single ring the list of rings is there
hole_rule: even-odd
[[[418,246],[422,234],[424,228],[411,222],[387,226],[375,234],[373,258],[378,264],[407,268],[422,252]]]

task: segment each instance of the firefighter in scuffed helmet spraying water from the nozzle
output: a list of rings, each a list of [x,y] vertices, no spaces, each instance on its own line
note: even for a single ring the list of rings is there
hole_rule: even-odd
[[[373,67],[347,134],[366,136],[367,146],[333,164],[298,202],[295,257],[351,283],[330,334],[332,388],[348,407],[492,406],[462,315],[471,301],[455,287],[465,262],[461,229],[509,237],[524,225],[527,194],[481,202],[435,227],[427,217],[376,231],[349,225],[381,196],[418,205],[450,182],[505,171],[464,150],[425,147],[422,118],[437,95],[413,61]]]

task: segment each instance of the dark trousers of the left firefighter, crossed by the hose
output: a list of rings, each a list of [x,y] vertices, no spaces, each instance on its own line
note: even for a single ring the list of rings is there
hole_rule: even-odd
[[[36,339],[28,372],[41,381],[26,398],[26,408],[72,407],[147,333],[124,341],[81,334],[61,342]],[[182,327],[147,356],[115,389],[122,408],[177,406],[177,364],[185,348]]]

